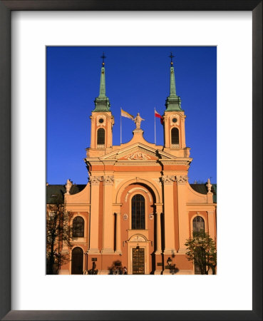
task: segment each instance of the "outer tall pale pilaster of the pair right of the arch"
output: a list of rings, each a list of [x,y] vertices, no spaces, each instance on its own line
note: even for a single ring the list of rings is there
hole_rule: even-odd
[[[179,221],[179,250],[178,253],[185,253],[185,242],[189,237],[189,220],[186,211],[186,183],[187,175],[176,176],[178,193],[178,221]]]

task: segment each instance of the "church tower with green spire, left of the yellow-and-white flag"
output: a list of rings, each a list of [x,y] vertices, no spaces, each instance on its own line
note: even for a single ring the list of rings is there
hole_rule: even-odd
[[[113,124],[114,118],[110,111],[110,101],[106,96],[105,90],[105,62],[104,56],[103,63],[100,71],[100,93],[95,99],[95,108],[91,112],[91,148],[93,150],[100,150],[100,154],[104,155],[105,152],[113,146]]]

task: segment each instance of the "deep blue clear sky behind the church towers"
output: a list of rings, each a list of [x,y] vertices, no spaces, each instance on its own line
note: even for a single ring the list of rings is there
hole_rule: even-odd
[[[189,181],[217,182],[217,49],[213,47],[79,46],[46,49],[47,182],[85,184],[83,158],[90,146],[94,100],[99,93],[105,53],[106,95],[115,118],[113,145],[120,144],[120,107],[140,113],[144,138],[154,143],[154,107],[163,115],[170,90],[170,52],[175,56],[175,83],[182,99],[186,145],[193,161]],[[135,124],[122,118],[122,142],[133,137]],[[156,143],[163,145],[163,126],[156,118]]]

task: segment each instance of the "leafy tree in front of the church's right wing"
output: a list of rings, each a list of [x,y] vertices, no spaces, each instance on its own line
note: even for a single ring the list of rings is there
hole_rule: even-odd
[[[200,268],[201,274],[208,274],[212,269],[212,274],[216,274],[217,249],[215,241],[210,238],[204,230],[192,233],[185,246],[187,247],[187,260],[193,261],[195,266]]]

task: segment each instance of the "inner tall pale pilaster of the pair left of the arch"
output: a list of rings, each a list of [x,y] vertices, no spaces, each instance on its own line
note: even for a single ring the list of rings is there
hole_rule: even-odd
[[[103,249],[102,253],[114,253],[114,217],[113,217],[113,176],[103,178]]]

